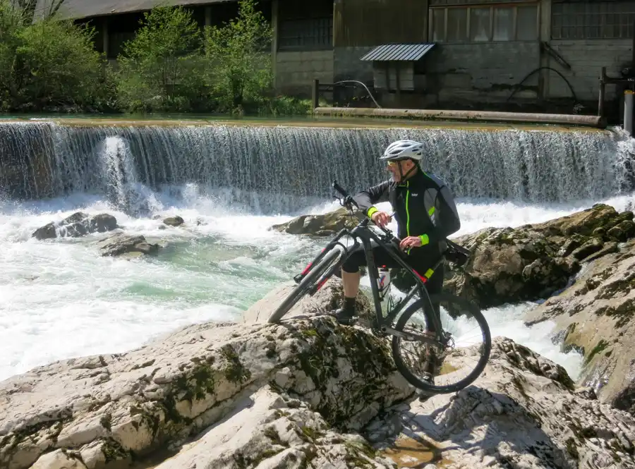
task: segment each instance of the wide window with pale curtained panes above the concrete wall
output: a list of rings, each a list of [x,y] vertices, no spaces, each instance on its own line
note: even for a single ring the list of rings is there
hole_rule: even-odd
[[[539,37],[535,3],[430,8],[430,18],[433,42],[537,41]]]

